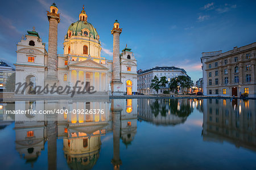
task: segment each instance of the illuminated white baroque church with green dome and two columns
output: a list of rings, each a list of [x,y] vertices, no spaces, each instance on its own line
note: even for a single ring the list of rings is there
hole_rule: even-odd
[[[131,49],[120,53],[122,28],[117,20],[112,28],[113,61],[101,57],[101,41],[96,28],[88,22],[84,7],[79,20],[71,23],[64,35],[64,54],[57,54],[60,14],[55,3],[47,11],[49,21],[48,51],[39,33],[27,31],[17,44],[16,83],[31,83],[31,88],[52,86],[94,87],[98,95],[133,95],[137,92],[137,60]],[[21,91],[21,90],[20,90]],[[20,92],[19,91],[19,92]],[[19,93],[18,93],[19,94]],[[26,90],[22,95],[32,95]]]

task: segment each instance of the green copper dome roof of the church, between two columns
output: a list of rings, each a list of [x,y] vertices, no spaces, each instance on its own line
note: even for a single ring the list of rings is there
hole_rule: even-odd
[[[82,21],[82,20],[78,20],[75,23],[72,23],[69,27],[68,30],[73,31],[73,35],[77,35],[77,32],[80,32],[82,35],[82,29],[87,28],[90,31],[90,35],[88,36],[93,36],[93,39],[96,39],[96,37],[98,36],[98,33],[96,31],[96,29],[93,27],[92,24]],[[67,37],[68,37],[68,33],[67,33]]]

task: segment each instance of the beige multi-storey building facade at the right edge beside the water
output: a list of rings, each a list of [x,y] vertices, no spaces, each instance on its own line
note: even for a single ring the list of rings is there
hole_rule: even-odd
[[[206,96],[256,97],[256,42],[222,53],[202,53],[203,91]]]

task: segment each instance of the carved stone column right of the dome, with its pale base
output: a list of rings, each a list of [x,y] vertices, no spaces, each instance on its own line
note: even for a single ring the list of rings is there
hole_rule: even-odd
[[[111,31],[113,35],[113,78],[112,78],[112,94],[123,95],[122,82],[121,82],[121,66],[120,66],[120,53],[119,53],[119,37],[122,33],[122,28],[119,27],[119,23],[115,20],[114,27]]]

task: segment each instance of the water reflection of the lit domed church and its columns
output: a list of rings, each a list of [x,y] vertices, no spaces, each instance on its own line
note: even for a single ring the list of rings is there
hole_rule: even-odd
[[[56,169],[56,141],[63,139],[64,157],[71,169],[91,169],[100,156],[101,136],[113,132],[114,169],[122,164],[119,139],[130,145],[137,133],[137,99],[127,100],[53,100],[15,101],[16,110],[36,111],[104,109],[104,114],[16,114],[15,147],[26,163],[40,156],[48,145],[48,169]],[[22,121],[21,121],[22,120]]]

